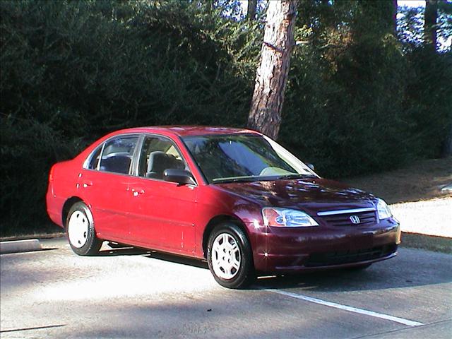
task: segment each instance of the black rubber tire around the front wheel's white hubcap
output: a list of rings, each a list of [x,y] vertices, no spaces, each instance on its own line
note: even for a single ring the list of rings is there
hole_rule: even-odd
[[[218,251],[213,249],[213,246],[215,239],[218,237],[227,237],[232,243],[237,244],[238,249],[235,249],[234,251],[239,257],[239,264],[237,265],[238,269],[233,270],[233,273],[231,273],[234,275],[232,278],[221,277],[215,273],[215,267],[213,265],[215,258],[213,258],[213,256],[218,256]],[[212,233],[210,233],[208,239],[207,262],[213,278],[215,278],[217,283],[223,287],[234,289],[244,288],[249,286],[256,278],[251,244],[249,244],[244,231],[239,226],[232,223],[218,225],[213,229]],[[218,265],[216,266],[216,269],[218,270]]]

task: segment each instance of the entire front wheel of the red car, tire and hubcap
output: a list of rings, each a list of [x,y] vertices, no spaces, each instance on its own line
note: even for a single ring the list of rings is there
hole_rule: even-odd
[[[251,245],[240,227],[215,227],[208,241],[207,261],[213,278],[228,288],[244,288],[255,277]]]

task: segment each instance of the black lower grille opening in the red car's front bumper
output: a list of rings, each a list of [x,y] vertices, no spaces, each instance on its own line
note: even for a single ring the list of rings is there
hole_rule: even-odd
[[[350,249],[311,254],[304,266],[328,266],[342,263],[358,263],[360,261],[374,260],[393,254],[397,245],[373,247],[371,249]]]

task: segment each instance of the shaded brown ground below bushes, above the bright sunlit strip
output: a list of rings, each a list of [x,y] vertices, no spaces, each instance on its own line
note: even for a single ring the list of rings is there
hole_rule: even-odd
[[[451,193],[441,192],[441,188],[452,184],[452,157],[417,161],[402,169],[340,182],[372,192],[390,204],[452,197]]]

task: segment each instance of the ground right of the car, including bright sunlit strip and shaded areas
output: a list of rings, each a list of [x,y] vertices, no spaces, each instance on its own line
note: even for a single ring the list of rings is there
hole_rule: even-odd
[[[391,205],[404,232],[405,246],[451,253],[452,194],[441,189],[452,184],[452,157],[341,181],[372,192]]]

